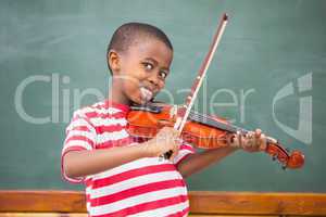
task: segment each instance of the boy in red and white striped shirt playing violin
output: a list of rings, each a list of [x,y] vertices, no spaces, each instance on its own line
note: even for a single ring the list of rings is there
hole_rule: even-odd
[[[173,47],[156,27],[128,23],[114,33],[106,58],[110,98],[74,113],[62,150],[63,176],[86,183],[90,216],[187,216],[185,177],[239,148],[258,151],[265,144],[256,130],[229,136],[228,148],[195,153],[167,127],[154,139],[135,142],[126,131],[129,105],[146,104],[164,87]],[[170,150],[171,158],[160,161]]]

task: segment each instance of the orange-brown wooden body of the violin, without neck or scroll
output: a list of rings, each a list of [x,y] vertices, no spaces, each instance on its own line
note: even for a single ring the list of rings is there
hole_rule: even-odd
[[[153,138],[165,126],[173,127],[175,124],[174,107],[172,105],[134,107],[128,114],[128,132],[141,138]],[[216,118],[217,119],[217,118]],[[220,122],[223,122],[222,119]],[[225,122],[227,124],[227,122]],[[205,124],[188,119],[181,131],[180,138],[200,149],[216,149],[226,146],[222,142],[227,131],[212,128]]]

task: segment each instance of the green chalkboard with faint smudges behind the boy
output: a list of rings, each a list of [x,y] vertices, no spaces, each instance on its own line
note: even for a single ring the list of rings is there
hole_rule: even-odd
[[[74,110],[106,97],[105,51],[126,22],[162,28],[174,48],[158,100],[183,103],[223,12],[229,23],[195,108],[263,129],[305,154],[283,170],[237,152],[188,178],[190,190],[326,192],[326,1],[0,2],[0,189],[83,189],[61,179]]]

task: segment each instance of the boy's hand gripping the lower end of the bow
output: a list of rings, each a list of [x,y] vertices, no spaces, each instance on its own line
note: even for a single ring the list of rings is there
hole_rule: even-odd
[[[179,150],[178,131],[173,127],[163,127],[146,144],[146,151],[151,157],[163,156],[170,150],[173,152],[170,157],[172,161],[178,154]]]

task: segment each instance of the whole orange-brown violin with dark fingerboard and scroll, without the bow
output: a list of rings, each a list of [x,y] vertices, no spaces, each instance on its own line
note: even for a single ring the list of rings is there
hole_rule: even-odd
[[[146,106],[133,105],[127,115],[128,132],[133,137],[151,139],[161,128],[173,127],[176,122],[177,113],[183,107],[166,104],[148,104]],[[226,136],[240,131],[246,135],[248,130],[231,125],[227,120],[218,117],[203,115],[197,112],[190,112],[185,127],[180,133],[183,141],[200,149],[217,149],[227,146]],[[304,164],[304,155],[300,151],[289,153],[288,149],[274,138],[266,137],[266,148],[263,150],[277,159],[281,167],[300,168]]]

